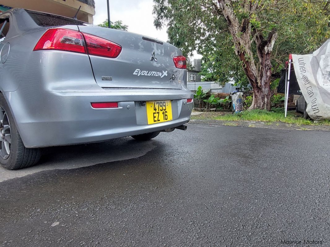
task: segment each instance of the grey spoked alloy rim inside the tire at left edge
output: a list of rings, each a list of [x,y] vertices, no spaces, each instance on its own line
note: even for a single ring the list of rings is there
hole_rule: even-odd
[[[0,106],[0,156],[8,159],[10,155],[10,147],[12,143],[12,135],[8,115],[3,107]]]

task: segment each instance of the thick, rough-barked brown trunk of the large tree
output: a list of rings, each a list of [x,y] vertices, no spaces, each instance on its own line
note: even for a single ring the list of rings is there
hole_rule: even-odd
[[[242,61],[242,66],[253,89],[253,100],[249,109],[270,110],[270,82],[272,77],[271,53],[274,43],[277,39],[276,30],[269,32],[268,38],[264,39],[262,32],[256,28],[251,29],[249,18],[238,20],[233,7],[233,0],[218,0],[219,11],[228,23],[228,30],[233,36],[235,52]],[[258,7],[257,1],[246,1],[242,6],[250,16]],[[216,7],[217,9],[217,7]],[[258,66],[254,61],[251,49],[252,42],[256,43],[257,55],[259,59]]]

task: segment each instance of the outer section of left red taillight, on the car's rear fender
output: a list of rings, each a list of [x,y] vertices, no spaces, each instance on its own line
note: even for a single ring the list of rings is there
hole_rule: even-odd
[[[64,50],[86,53],[82,33],[63,28],[48,29],[33,50]]]

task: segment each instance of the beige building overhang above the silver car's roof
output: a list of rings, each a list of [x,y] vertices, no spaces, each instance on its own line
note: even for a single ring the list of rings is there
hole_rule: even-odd
[[[58,14],[66,17],[74,17],[80,6],[77,15],[78,20],[93,23],[94,0],[0,0],[0,4],[12,8],[22,8]]]

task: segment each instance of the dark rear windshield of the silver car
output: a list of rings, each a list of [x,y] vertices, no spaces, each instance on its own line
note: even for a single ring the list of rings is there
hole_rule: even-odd
[[[86,22],[60,15],[47,14],[32,10],[25,10],[25,11],[31,16],[31,18],[37,23],[37,25],[41,27],[64,26],[64,25],[86,25],[86,24],[88,25],[88,23]]]

